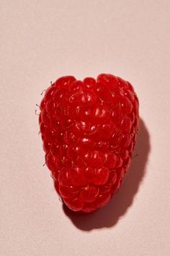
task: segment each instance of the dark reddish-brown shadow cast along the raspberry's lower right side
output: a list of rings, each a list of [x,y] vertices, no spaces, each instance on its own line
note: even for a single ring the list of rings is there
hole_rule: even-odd
[[[148,130],[143,120],[140,119],[138,137],[133,152],[134,157],[128,174],[109,204],[94,213],[75,213],[63,204],[64,213],[78,229],[90,231],[91,229],[109,228],[115,226],[120,218],[125,216],[128,208],[133,205],[134,197],[145,176],[149,151]]]

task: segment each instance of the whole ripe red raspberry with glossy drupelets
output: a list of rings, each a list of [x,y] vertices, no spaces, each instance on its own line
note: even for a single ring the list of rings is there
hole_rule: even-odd
[[[45,163],[55,189],[74,211],[109,202],[124,178],[138,131],[138,98],[112,74],[61,77],[40,103]]]

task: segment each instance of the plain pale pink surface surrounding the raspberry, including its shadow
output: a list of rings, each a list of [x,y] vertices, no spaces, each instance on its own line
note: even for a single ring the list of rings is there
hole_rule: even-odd
[[[1,0],[0,255],[170,255],[169,0]],[[107,207],[63,209],[44,163],[35,103],[64,74],[132,82],[140,132]]]

